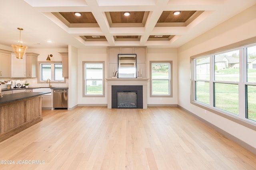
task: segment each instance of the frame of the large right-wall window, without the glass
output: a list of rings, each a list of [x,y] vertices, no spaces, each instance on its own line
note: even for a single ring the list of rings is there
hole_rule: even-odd
[[[190,67],[191,67],[191,84],[190,84],[190,103],[193,105],[196,105],[198,107],[201,107],[204,109],[205,113],[206,110],[215,113],[217,115],[220,115],[222,117],[225,117],[231,121],[234,121],[236,123],[239,123],[241,125],[244,125],[250,129],[256,130],[256,121],[247,119],[246,118],[246,91],[245,87],[246,85],[254,85],[256,86],[256,83],[248,83],[246,82],[246,77],[247,77],[247,62],[246,62],[246,48],[251,47],[256,45],[256,37],[251,38],[251,39],[246,39],[244,41],[240,41],[238,43],[234,43],[231,45],[227,45],[224,47],[220,47],[218,49],[214,49],[205,53],[201,53],[199,55],[194,55],[190,57]],[[239,82],[230,82],[230,81],[215,81],[214,80],[214,67],[212,66],[212,63],[214,63],[214,55],[219,54],[219,53],[225,53],[226,51],[233,51],[239,49],[240,50],[240,60],[239,60]],[[210,56],[210,106],[207,104],[204,104],[202,102],[198,102],[195,100],[195,70],[196,70],[196,65],[195,65],[195,60],[200,57],[205,57],[205,56]],[[213,56],[213,57],[212,57]],[[228,84],[238,84],[238,107],[239,107],[239,115],[229,113],[227,111],[224,111],[222,109],[218,109],[216,107],[213,107],[214,100],[213,100],[213,95],[214,95],[214,82],[216,83],[228,83]]]

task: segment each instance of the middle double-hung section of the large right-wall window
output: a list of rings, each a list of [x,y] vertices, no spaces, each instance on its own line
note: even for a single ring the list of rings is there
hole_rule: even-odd
[[[240,51],[231,50],[214,54],[214,107],[239,114],[238,82]]]

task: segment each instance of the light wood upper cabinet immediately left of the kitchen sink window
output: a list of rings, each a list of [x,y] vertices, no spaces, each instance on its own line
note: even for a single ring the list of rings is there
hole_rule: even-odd
[[[37,57],[39,54],[26,53],[26,77],[37,77]]]

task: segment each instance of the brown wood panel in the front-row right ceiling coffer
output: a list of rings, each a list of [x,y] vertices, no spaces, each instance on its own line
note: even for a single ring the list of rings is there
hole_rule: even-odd
[[[175,16],[174,11],[163,11],[158,23],[173,23],[173,22],[186,22],[196,11],[181,11],[179,15]]]

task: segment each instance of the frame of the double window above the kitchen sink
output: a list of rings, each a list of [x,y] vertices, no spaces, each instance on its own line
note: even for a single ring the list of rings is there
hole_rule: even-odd
[[[41,70],[41,64],[62,64],[62,72],[63,72],[63,63],[62,61],[38,61],[38,78],[37,78],[37,82],[38,83],[46,83],[47,80],[42,80],[42,70]],[[54,66],[51,66],[51,76],[52,78],[54,78]],[[51,83],[66,83],[66,77],[64,77],[64,80],[50,80]]]

